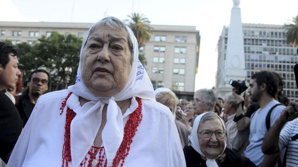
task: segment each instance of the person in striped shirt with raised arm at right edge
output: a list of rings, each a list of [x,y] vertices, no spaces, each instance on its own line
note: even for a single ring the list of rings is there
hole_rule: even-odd
[[[298,99],[291,101],[283,110],[264,137],[266,142],[262,144],[262,152],[272,155],[270,156],[272,162],[276,162],[278,158],[273,154],[287,148],[286,158],[283,160],[284,163],[286,162],[286,164],[283,163],[285,166],[298,166],[298,141],[296,141],[298,138],[298,113],[293,106],[298,106]]]

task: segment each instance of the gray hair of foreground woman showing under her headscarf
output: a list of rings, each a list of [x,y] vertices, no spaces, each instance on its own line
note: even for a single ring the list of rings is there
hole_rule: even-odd
[[[128,36],[128,45],[130,46],[129,50],[131,51],[131,65],[132,65],[132,63],[134,62],[134,45],[133,45],[132,39],[130,38],[128,29],[126,28],[127,25],[121,20],[119,20],[118,18],[109,16],[109,17],[103,18],[101,21],[93,25],[90,29],[89,35],[97,28],[97,26],[100,26],[100,25],[104,25],[108,28],[117,29],[121,32],[125,32],[125,34]]]

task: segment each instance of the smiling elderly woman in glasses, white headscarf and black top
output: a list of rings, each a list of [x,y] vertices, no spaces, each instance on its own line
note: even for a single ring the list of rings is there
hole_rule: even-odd
[[[183,149],[187,167],[243,166],[240,154],[226,148],[226,127],[214,112],[195,118],[189,141]]]

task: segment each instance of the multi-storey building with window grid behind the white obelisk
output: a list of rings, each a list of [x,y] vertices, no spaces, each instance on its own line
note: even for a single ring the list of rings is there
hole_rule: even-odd
[[[297,46],[286,44],[283,25],[242,24],[245,54],[246,81],[262,70],[277,72],[285,82],[283,94],[289,99],[298,98],[293,67],[298,62]],[[229,27],[224,26],[218,41],[218,72],[216,85],[224,77],[220,75],[226,61]]]

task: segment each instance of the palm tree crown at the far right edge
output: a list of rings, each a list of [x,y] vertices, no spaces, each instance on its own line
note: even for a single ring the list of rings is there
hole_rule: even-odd
[[[292,23],[286,23],[285,28],[287,32],[286,40],[288,44],[292,44],[293,47],[298,45],[298,15],[293,17]]]

